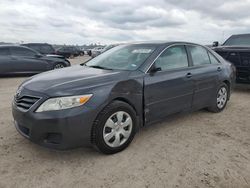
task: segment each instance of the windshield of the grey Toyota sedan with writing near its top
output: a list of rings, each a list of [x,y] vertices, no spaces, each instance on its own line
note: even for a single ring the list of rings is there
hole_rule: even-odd
[[[103,69],[136,70],[154,50],[153,45],[121,45],[93,58],[85,65]]]

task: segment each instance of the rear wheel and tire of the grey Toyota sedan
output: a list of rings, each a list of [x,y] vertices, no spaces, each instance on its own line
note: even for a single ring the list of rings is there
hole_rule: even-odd
[[[219,113],[223,111],[229,100],[229,88],[228,85],[222,83],[216,91],[216,95],[213,99],[213,105],[208,108],[210,112]]]

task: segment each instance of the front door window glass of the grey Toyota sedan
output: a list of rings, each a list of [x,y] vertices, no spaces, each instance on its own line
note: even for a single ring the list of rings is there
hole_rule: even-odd
[[[161,70],[188,67],[188,58],[184,46],[175,46],[164,51],[155,61],[155,66]]]

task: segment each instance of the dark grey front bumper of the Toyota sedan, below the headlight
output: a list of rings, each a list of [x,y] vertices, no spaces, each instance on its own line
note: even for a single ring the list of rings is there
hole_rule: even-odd
[[[12,114],[18,132],[39,145],[59,150],[91,145],[95,113],[88,107],[36,113],[13,103]]]

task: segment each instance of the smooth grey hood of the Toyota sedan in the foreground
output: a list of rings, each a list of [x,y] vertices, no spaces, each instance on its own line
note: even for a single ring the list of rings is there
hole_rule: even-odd
[[[26,80],[22,87],[47,95],[75,94],[127,78],[127,71],[112,71],[76,65],[48,71]]]

